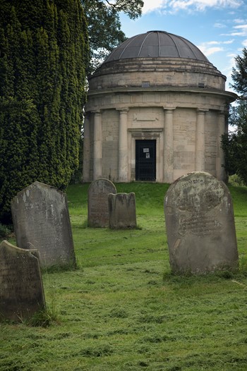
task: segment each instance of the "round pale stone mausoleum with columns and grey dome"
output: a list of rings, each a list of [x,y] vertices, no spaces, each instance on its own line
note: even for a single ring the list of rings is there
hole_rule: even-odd
[[[226,77],[183,37],[126,39],[90,77],[83,181],[172,183],[190,171],[225,180]]]

